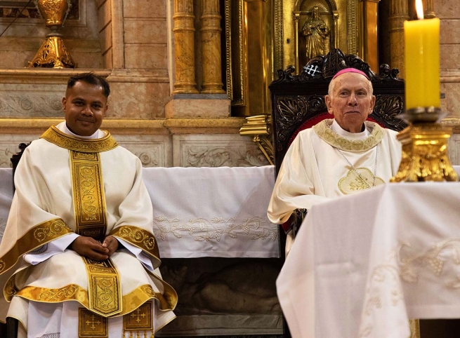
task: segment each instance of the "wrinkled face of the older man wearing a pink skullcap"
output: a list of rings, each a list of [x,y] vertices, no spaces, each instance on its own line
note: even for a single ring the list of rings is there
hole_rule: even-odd
[[[360,133],[367,116],[372,113],[375,96],[371,83],[357,73],[344,73],[334,79],[331,95],[326,95],[329,114],[339,126],[350,133]]]

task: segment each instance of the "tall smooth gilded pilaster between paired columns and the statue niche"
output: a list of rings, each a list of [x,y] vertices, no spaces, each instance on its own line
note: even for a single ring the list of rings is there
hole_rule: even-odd
[[[229,95],[234,115],[268,114],[270,111],[268,85],[273,80],[273,8],[272,1],[266,0],[225,0],[226,27],[230,27],[226,39],[231,55],[227,76],[231,81],[228,88],[231,88]]]

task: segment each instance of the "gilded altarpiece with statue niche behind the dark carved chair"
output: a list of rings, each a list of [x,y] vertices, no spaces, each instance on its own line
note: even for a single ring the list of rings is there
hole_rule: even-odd
[[[305,28],[313,19],[323,25],[321,54],[339,48],[377,72],[378,50],[372,41],[377,41],[378,4],[379,0],[225,0],[226,88],[232,115],[271,114],[268,85],[278,69],[294,65],[299,72],[310,60]]]

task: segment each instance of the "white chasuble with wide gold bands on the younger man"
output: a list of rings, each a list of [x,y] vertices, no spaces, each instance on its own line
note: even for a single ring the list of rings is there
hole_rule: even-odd
[[[141,170],[138,158],[118,147],[109,133],[80,140],[53,126],[27,147],[15,174],[16,194],[4,234],[13,240],[0,245],[0,320],[8,309],[5,300],[13,296],[35,302],[73,300],[104,317],[130,313],[155,299],[157,309],[171,312],[162,320],[173,318],[177,295],[157,269],[152,205]],[[22,260],[25,253],[73,233],[99,241],[111,234],[142,250],[155,270],[125,250],[105,262],[82,259],[72,250],[37,265]],[[13,316],[27,323],[20,313]]]

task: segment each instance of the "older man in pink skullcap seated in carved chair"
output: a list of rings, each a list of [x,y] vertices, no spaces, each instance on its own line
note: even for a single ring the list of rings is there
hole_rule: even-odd
[[[296,209],[385,184],[397,173],[397,132],[366,121],[376,100],[372,93],[371,81],[358,69],[334,76],[324,97],[334,119],[302,130],[292,142],[268,205],[271,222],[282,224]],[[292,240],[290,231],[287,252]]]

